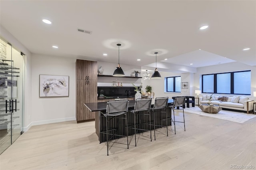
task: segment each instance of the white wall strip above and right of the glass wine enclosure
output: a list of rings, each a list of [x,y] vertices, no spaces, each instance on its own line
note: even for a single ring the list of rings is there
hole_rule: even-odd
[[[31,53],[30,51],[20,43],[12,34],[10,34],[4,27],[0,26],[1,37],[7,42],[11,43],[14,47],[22,51],[24,56],[24,127],[25,131],[28,129],[30,123],[32,122],[30,115],[32,115],[31,110]]]

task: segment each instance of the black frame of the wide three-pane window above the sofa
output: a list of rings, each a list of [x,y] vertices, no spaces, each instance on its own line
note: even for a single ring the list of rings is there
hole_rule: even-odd
[[[241,72],[251,72],[251,70],[245,70],[245,71],[233,71],[233,72],[224,72],[224,73],[213,73],[213,74],[203,74],[202,75],[202,93],[207,93],[204,92],[204,75],[214,75],[214,94],[229,94],[229,95],[251,95],[251,94],[240,94],[240,93],[234,93],[234,73],[241,73]],[[218,74],[225,74],[225,73],[230,73],[230,93],[217,93],[217,75]],[[250,77],[251,79],[251,77]],[[210,93],[210,94],[213,94]]]

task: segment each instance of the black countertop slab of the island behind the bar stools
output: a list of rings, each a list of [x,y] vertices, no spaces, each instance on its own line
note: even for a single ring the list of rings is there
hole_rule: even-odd
[[[134,107],[135,101],[129,101],[128,107],[132,108]],[[84,103],[84,105],[91,111],[106,111],[107,107],[107,102],[97,102],[97,103]],[[168,105],[173,105],[173,99],[168,100]],[[152,107],[153,107],[153,102],[152,102]]]

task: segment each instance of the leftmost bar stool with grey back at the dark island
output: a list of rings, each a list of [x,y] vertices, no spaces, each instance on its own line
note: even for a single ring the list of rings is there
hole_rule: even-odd
[[[128,128],[127,128],[127,112],[128,112],[128,100],[116,100],[116,101],[108,101],[107,107],[106,107],[106,113],[100,112],[104,117],[106,117],[106,131],[100,132],[103,134],[106,134],[107,137],[107,155],[108,155],[108,141],[111,140],[113,136],[122,136],[124,135],[120,134],[114,134],[109,133],[109,131],[113,131],[116,129],[110,129],[108,130],[108,121],[111,119],[125,119],[126,121],[126,137],[127,137],[127,149],[129,149],[129,143],[128,143]],[[124,117],[120,116],[124,115]],[[110,119],[109,119],[110,118]],[[118,124],[119,125],[119,124]],[[108,135],[112,135],[110,139],[108,139]]]

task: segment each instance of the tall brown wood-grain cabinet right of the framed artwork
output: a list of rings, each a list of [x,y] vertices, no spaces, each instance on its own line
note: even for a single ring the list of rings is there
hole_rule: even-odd
[[[94,120],[84,103],[97,102],[97,62],[76,60],[76,121]]]

